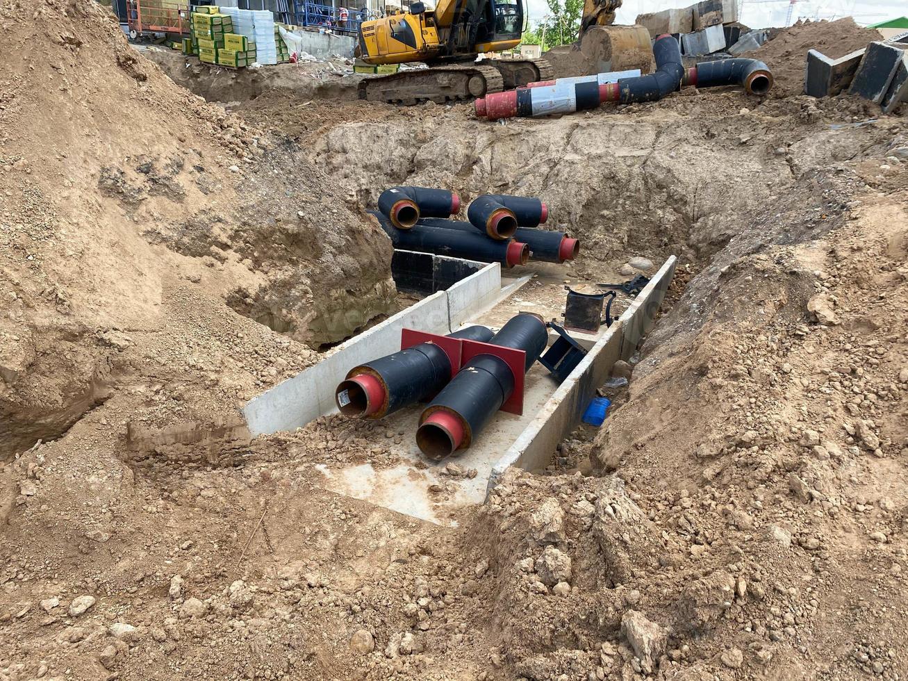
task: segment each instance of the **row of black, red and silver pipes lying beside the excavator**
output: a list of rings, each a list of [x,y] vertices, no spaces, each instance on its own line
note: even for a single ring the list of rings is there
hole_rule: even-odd
[[[499,118],[538,117],[570,114],[594,109],[605,102],[632,104],[653,102],[675,92],[681,85],[717,87],[740,84],[748,94],[764,95],[773,85],[773,74],[755,59],[725,59],[701,62],[685,70],[681,50],[671,35],[660,35],[653,43],[656,73],[602,82],[604,76],[558,78],[517,90],[493,93],[476,100],[476,114],[490,121]]]

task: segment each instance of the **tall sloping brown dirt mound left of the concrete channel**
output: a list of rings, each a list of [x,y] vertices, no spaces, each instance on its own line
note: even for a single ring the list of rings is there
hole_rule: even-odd
[[[14,3],[0,22],[0,455],[104,400],[117,353],[169,332],[178,281],[313,344],[393,308],[390,245],[347,192],[176,87],[109,10]]]

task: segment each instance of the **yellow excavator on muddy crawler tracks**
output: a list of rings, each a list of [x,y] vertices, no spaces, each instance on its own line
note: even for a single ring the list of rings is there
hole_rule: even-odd
[[[482,59],[482,53],[517,47],[526,27],[526,0],[439,0],[435,9],[414,2],[360,25],[356,56],[366,64],[423,62],[412,69],[360,83],[360,99],[417,104],[484,97],[552,77],[545,59]],[[622,0],[586,0],[583,24],[614,21]]]

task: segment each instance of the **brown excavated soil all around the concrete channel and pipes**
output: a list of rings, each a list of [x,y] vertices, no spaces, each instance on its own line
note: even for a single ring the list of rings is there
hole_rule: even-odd
[[[761,58],[795,74],[836,25]],[[782,78],[545,121],[225,114],[94,5],[0,30],[29,45],[0,72],[0,679],[908,674],[905,107]],[[604,426],[457,528],[321,487],[411,433],[239,419],[397,304],[361,211],[398,183],[543,197],[572,283],[679,258]]]

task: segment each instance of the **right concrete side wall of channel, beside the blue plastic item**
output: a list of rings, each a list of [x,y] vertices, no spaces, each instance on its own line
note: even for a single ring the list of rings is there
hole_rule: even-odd
[[[537,417],[498,460],[489,477],[489,489],[495,486],[508,466],[527,470],[548,466],[558,442],[577,428],[589,401],[597,388],[606,382],[615,362],[627,360],[633,355],[652,328],[675,273],[675,262],[672,256],[662,265],[618,321],[587,352],[568,379],[558,386]]]

